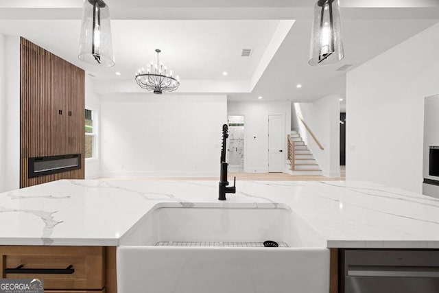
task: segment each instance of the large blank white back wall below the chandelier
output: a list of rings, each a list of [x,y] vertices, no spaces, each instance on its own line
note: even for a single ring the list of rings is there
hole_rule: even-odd
[[[226,95],[101,97],[102,176],[219,176]]]

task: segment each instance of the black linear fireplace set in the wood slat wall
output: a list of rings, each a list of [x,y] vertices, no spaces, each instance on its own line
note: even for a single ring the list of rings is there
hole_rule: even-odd
[[[29,178],[81,169],[81,154],[29,158]]]

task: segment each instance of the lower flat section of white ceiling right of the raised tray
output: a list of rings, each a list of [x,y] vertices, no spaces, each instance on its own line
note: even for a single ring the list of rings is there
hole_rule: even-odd
[[[308,65],[311,21],[296,21],[252,93],[232,93],[229,99],[291,99],[309,102],[326,95],[345,97],[346,72],[437,23],[436,20],[344,21],[345,58],[333,65]],[[401,60],[404,62],[404,60]],[[347,71],[336,71],[353,65]],[[297,89],[296,84],[302,84]]]

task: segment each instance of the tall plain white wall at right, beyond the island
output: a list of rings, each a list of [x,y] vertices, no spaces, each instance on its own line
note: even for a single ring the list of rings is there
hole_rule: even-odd
[[[346,178],[422,192],[424,98],[439,93],[439,24],[347,73]]]

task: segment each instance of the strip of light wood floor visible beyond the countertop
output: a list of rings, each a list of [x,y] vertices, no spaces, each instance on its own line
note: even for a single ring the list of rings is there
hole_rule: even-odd
[[[342,172],[343,173],[343,172]],[[317,181],[331,181],[331,180],[344,180],[342,177],[326,177],[326,176],[316,176],[316,175],[289,175],[285,173],[229,173],[228,180],[232,181],[233,177],[236,176],[237,180],[317,180]],[[218,177],[99,177],[97,180],[219,180]]]

